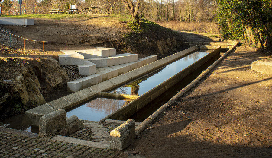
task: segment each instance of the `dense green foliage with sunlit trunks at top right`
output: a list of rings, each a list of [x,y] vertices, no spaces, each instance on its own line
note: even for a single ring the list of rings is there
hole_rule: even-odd
[[[271,52],[272,0],[218,0],[216,17],[224,38]]]

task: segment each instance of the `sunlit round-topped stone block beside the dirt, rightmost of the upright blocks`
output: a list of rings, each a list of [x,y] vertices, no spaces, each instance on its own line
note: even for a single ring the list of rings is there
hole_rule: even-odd
[[[122,125],[111,131],[110,147],[112,149],[123,150],[134,142],[135,137],[135,120],[128,119]]]

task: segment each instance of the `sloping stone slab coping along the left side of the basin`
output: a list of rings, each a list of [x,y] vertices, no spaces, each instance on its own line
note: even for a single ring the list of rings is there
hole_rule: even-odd
[[[128,77],[128,78],[130,78],[130,80],[133,80],[137,77],[140,77],[143,74],[150,73],[151,71],[157,70],[158,68],[161,68],[162,66],[167,65],[168,63],[171,63],[179,58],[182,58],[183,56],[186,56],[187,53],[194,52],[197,49],[199,49],[197,46],[192,46],[188,49],[185,49],[185,50],[177,52],[173,55],[170,55],[170,56],[167,56],[167,57],[162,58],[160,60],[157,60],[156,62],[160,62],[160,61],[164,61],[165,59],[168,59],[166,62],[164,61],[160,65],[158,64],[156,66],[156,68],[152,66],[154,64],[154,62],[144,65],[140,68],[143,69],[145,67],[147,67],[147,68],[150,66],[152,67],[151,69],[148,69],[144,73],[139,73],[137,71],[137,69],[139,69],[139,68],[136,68],[136,69],[129,71],[129,72],[122,74],[122,75],[126,76],[128,74],[134,74],[133,77]],[[119,76],[121,76],[121,75],[119,75]],[[128,81],[123,81],[122,84],[125,84],[127,82]],[[30,109],[30,110],[26,111],[25,114],[31,119],[31,122],[32,122],[33,121],[32,119],[40,118],[41,116],[46,115],[46,113],[48,113],[48,112],[50,113],[50,112],[53,112],[58,109],[65,109],[65,110],[70,109],[76,105],[79,105],[80,103],[83,103],[84,101],[87,101],[87,100],[90,100],[90,99],[96,97],[98,95],[99,91],[100,92],[107,91],[107,90],[114,88],[114,86],[115,86],[115,84],[113,84],[110,80],[106,80],[106,81],[96,84],[94,86],[87,87],[83,90],[74,92],[74,93],[69,94],[67,96],[61,97],[59,99],[53,100],[53,101],[48,102],[46,104],[43,104],[43,105],[40,105],[40,106],[35,107],[33,109]],[[46,108],[47,112],[41,113],[42,111],[44,111],[42,109],[42,107]],[[107,117],[100,120],[99,122],[102,122],[105,119],[107,119]],[[32,125],[32,123],[31,123],[31,125]]]

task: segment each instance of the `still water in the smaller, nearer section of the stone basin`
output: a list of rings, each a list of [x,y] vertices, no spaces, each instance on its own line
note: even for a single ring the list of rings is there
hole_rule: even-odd
[[[99,121],[128,103],[126,100],[96,98],[67,112],[67,117],[76,115],[79,119]]]

